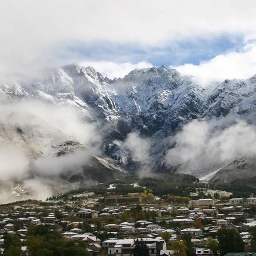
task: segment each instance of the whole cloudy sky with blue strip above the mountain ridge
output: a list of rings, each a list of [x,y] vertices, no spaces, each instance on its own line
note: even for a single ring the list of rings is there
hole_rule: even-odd
[[[0,0],[0,78],[70,62],[111,78],[152,65],[256,74],[255,0]]]

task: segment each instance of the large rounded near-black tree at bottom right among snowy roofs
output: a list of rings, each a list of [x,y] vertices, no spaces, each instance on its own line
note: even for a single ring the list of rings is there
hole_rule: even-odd
[[[218,243],[220,247],[220,256],[226,253],[244,252],[244,242],[235,230],[221,229],[217,233]]]

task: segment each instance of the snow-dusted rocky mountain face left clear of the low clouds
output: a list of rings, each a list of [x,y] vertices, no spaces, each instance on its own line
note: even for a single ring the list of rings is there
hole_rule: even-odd
[[[209,170],[198,174],[193,169],[183,169],[183,165],[166,163],[167,151],[175,146],[172,138],[183,125],[194,119],[218,120],[229,114],[256,123],[255,76],[246,80],[200,84],[195,78],[164,66],[136,69],[122,79],[111,80],[92,67],[70,64],[29,83],[2,84],[0,97],[7,101],[35,99],[52,105],[76,107],[84,122],[97,124],[101,136],[100,157],[105,157],[105,163],[115,161],[115,166],[127,172],[136,172],[146,164],[154,172],[178,170],[197,176],[207,174]],[[58,132],[57,136],[56,131],[46,131],[43,126],[40,129],[42,135],[47,133],[48,146],[52,145],[53,138],[67,141],[70,136]],[[134,160],[131,148],[125,146],[128,134],[133,132],[142,140],[150,141],[146,161]],[[1,133],[2,138],[6,136],[4,131]],[[38,134],[34,138],[30,136],[32,142],[25,142],[40,147],[39,137]],[[46,145],[45,140],[43,144]],[[45,149],[40,154],[50,153]],[[210,171],[214,170],[215,166],[212,166]]]

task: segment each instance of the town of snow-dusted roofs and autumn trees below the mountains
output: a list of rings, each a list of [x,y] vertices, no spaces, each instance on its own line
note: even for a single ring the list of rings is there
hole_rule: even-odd
[[[3,255],[48,255],[62,243],[76,251],[72,255],[88,256],[256,254],[256,197],[185,199],[173,196],[167,203],[145,189],[3,204],[0,250]]]

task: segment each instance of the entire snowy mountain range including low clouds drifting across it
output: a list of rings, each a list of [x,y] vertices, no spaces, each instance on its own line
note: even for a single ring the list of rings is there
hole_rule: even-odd
[[[26,178],[102,182],[181,172],[243,183],[256,177],[256,76],[202,83],[161,66],[109,79],[69,64],[29,82],[1,84],[0,100],[0,146],[22,148]]]

